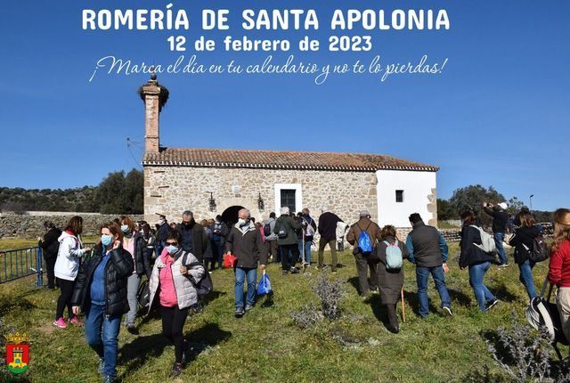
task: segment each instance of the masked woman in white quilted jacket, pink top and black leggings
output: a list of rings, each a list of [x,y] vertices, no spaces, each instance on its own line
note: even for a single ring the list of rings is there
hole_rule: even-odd
[[[175,363],[171,377],[180,375],[183,370],[184,352],[187,348],[187,342],[183,338],[184,322],[188,309],[198,303],[198,292],[194,284],[207,273],[196,257],[182,249],[181,241],[180,232],[168,232],[167,247],[154,263],[149,283],[149,313],[156,300],[162,315],[162,334],[175,345]]]

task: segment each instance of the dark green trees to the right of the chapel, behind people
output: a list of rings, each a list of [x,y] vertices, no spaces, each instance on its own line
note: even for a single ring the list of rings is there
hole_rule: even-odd
[[[440,221],[460,219],[460,214],[470,208],[475,212],[480,224],[490,226],[493,218],[485,214],[483,202],[490,202],[493,205],[499,202],[507,202],[509,205],[507,213],[510,216],[515,216],[521,208],[525,207],[525,203],[515,196],[506,199],[493,186],[485,189],[484,186],[476,184],[456,189],[449,200],[438,199],[437,219]],[[552,220],[551,211],[533,210],[533,215],[537,222],[550,222]]]

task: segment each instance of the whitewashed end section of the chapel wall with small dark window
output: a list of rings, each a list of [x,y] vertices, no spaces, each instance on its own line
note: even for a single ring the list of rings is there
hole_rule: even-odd
[[[428,211],[430,196],[435,199],[436,172],[378,170],[377,198],[379,225],[410,227],[408,216],[419,213],[424,222],[436,216]],[[403,202],[395,201],[395,191],[403,190]]]

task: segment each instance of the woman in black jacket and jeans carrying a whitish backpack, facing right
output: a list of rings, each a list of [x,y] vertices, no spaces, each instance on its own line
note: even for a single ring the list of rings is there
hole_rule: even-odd
[[[463,227],[461,228],[460,241],[460,268],[469,268],[469,284],[473,288],[473,293],[477,305],[482,312],[489,310],[499,301],[493,293],[485,286],[485,273],[491,268],[493,257],[483,249],[479,248],[483,241],[481,232],[475,224],[475,214],[468,210],[461,214]]]

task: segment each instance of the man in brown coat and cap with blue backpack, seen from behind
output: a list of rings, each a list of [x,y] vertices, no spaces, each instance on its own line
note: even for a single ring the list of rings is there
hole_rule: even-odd
[[[365,298],[368,297],[371,290],[374,292],[378,291],[379,258],[376,251],[373,250],[371,253],[364,253],[362,249],[358,247],[358,238],[361,232],[368,232],[372,248],[376,249],[379,240],[382,239],[381,230],[378,224],[371,221],[371,215],[368,213],[368,210],[362,210],[360,212],[360,219],[356,224],[350,226],[350,230],[346,234],[346,240],[354,246],[353,254],[356,260],[360,295],[362,298]],[[368,281],[369,268],[371,271],[370,284]]]

